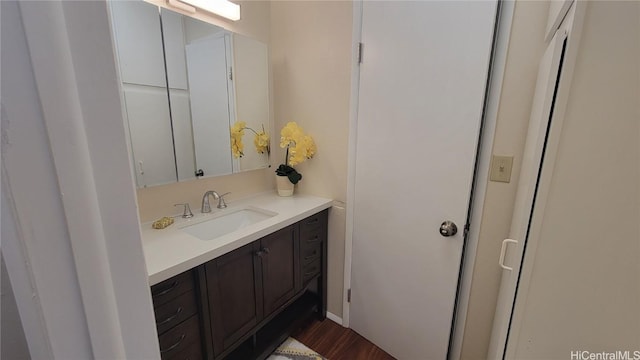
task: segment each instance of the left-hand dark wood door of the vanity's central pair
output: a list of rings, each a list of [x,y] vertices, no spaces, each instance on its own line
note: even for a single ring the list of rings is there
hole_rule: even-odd
[[[205,264],[213,349],[229,348],[263,317],[262,283],[255,241]]]

